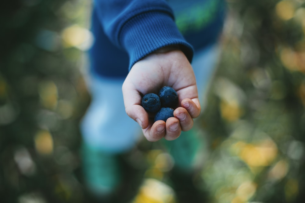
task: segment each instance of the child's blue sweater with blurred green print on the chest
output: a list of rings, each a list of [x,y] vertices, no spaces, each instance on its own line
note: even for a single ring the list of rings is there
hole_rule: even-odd
[[[174,44],[191,62],[194,49],[216,40],[223,11],[223,0],[95,0],[92,32],[101,37],[96,28],[101,26],[108,40],[127,52],[129,70],[147,54]],[[99,55],[99,48],[92,51]]]

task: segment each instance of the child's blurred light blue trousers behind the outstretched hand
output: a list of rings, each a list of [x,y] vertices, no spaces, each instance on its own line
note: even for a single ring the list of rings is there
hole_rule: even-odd
[[[202,107],[218,52],[217,44],[212,44],[196,51],[193,57],[192,67]],[[89,72],[87,82],[92,102],[81,122],[84,142],[92,148],[113,153],[133,148],[143,135],[138,123],[125,112],[122,95],[124,78],[109,79]]]

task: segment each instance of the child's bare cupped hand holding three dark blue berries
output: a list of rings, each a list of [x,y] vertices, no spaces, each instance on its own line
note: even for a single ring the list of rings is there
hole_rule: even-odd
[[[180,107],[174,117],[153,122],[153,118],[141,106],[142,96],[158,92],[163,86],[177,91]],[[138,122],[149,141],[161,138],[174,140],[182,131],[193,126],[193,118],[200,114],[200,103],[192,66],[182,51],[163,48],[135,63],[127,75],[123,87],[126,113]]]

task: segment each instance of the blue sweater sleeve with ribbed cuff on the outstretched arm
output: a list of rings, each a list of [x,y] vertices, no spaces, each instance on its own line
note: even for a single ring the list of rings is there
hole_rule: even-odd
[[[191,62],[193,48],[175,24],[164,0],[95,0],[98,18],[109,40],[127,51],[129,69],[147,54],[179,45]]]

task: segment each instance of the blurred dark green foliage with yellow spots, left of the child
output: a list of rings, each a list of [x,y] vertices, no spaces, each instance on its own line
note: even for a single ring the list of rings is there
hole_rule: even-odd
[[[1,202],[81,202],[79,120],[90,101],[81,75],[90,1],[1,5]]]

